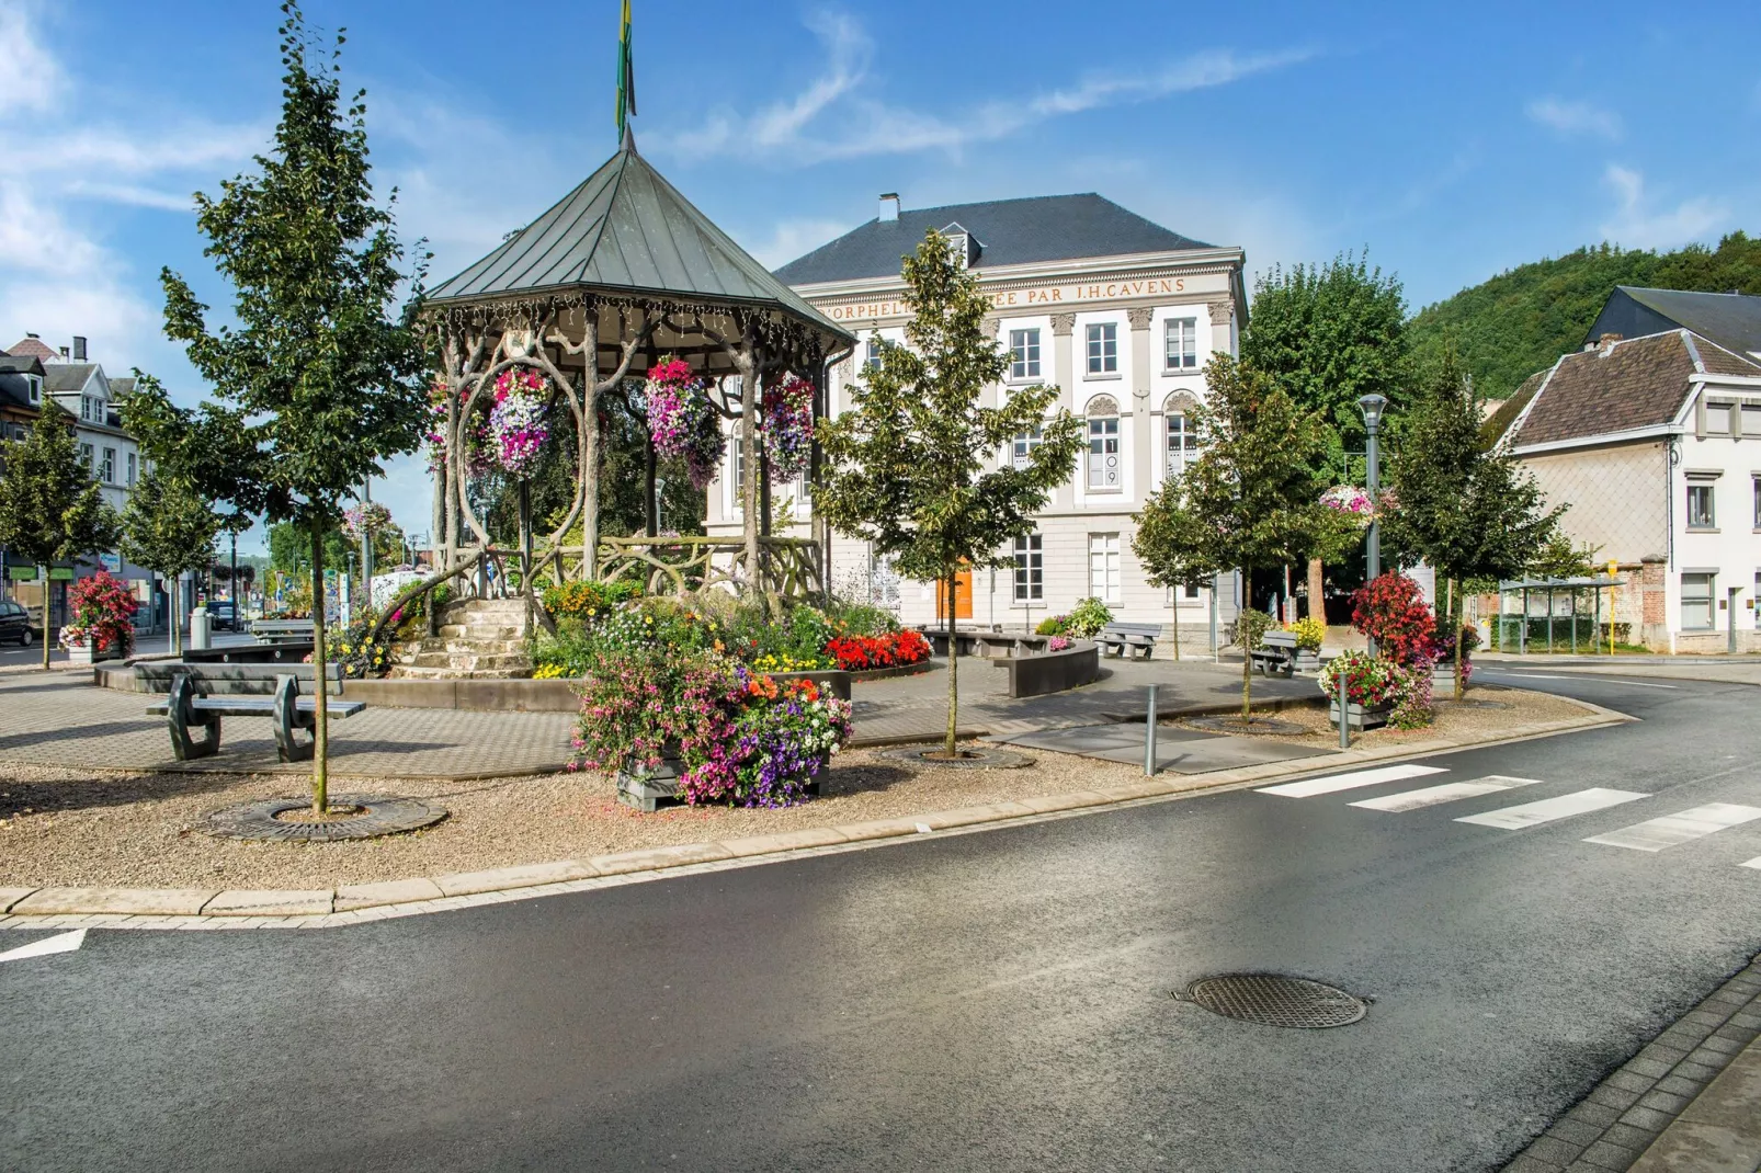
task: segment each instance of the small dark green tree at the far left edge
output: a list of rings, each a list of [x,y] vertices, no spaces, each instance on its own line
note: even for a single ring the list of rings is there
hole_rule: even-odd
[[[0,476],[0,546],[41,567],[72,562],[116,544],[116,511],[104,504],[92,468],[79,460],[74,417],[42,405],[23,442],[7,446]],[[49,583],[42,583],[42,668],[49,668]]]

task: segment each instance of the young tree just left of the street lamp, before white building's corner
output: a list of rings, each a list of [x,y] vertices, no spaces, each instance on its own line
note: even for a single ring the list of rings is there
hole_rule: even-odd
[[[1254,657],[1245,622],[1254,569],[1319,551],[1335,557],[1356,528],[1321,504],[1326,490],[1326,424],[1247,359],[1215,356],[1205,368],[1210,398],[1192,412],[1201,453],[1182,484],[1173,541],[1192,558],[1242,571],[1242,720],[1254,715]]]

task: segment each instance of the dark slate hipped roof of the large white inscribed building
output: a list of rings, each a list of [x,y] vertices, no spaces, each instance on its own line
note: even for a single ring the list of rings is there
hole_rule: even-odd
[[[949,224],[963,225],[977,240],[974,269],[1212,248],[1145,220],[1111,199],[1083,192],[900,210],[896,222],[870,220],[796,257],[777,269],[777,277],[791,285],[898,277],[900,259],[917,247],[925,232]]]

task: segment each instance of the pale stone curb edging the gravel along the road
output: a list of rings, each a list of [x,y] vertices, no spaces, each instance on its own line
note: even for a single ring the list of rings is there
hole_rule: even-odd
[[[983,807],[937,810],[893,819],[870,819],[840,826],[805,828],[773,835],[750,835],[708,844],[646,847],[586,859],[527,863],[486,872],[463,872],[372,884],[343,884],[335,889],[180,889],[180,888],[0,888],[0,928],[324,928],[354,925],[421,912],[527,900],[534,896],[586,891],[613,882],[664,879],[669,875],[780,863],[803,854],[828,854],[856,847],[900,842],[933,831],[988,830],[1050,817],[1106,810],[1141,801],[1168,801],[1240,789],[1271,778],[1330,773],[1342,766],[1389,759],[1451,754],[1463,749],[1506,745],[1532,738],[1580,733],[1636,720],[1625,713],[1573,701],[1590,708],[1587,717],[1518,726],[1504,736],[1430,738],[1372,750],[1330,754],[1324,764],[1314,759],[1268,763],[1203,775],[1197,786],[1176,786],[1164,775],[1118,786],[1041,794]],[[1229,708],[1233,712],[1233,706]],[[925,738],[909,738],[923,741]]]

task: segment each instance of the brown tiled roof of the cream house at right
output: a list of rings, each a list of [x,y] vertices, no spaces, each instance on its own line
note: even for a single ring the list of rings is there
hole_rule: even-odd
[[[1511,396],[1529,396],[1513,442],[1523,447],[1668,424],[1687,402],[1689,380],[1706,373],[1761,377],[1761,363],[1687,329],[1576,350],[1541,372],[1539,382],[1530,375]]]

